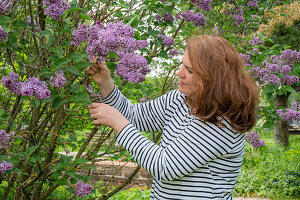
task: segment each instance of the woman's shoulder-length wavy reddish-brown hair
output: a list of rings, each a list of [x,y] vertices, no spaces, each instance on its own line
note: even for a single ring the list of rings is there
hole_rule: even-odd
[[[249,131],[256,122],[259,92],[241,56],[227,40],[210,35],[191,38],[187,51],[196,87],[186,101],[194,115],[219,127],[225,117],[236,131]]]

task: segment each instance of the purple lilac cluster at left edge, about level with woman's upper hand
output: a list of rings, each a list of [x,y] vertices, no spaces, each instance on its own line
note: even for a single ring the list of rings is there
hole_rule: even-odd
[[[2,78],[3,85],[10,90],[11,93],[23,96],[34,96],[37,99],[49,99],[50,91],[47,89],[45,81],[31,77],[25,82],[18,81],[19,75],[13,72]]]

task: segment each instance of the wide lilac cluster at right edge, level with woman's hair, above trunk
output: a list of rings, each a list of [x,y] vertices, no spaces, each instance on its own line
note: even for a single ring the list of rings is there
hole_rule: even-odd
[[[266,81],[269,84],[294,85],[299,77],[290,75],[295,62],[300,62],[300,52],[287,49],[279,56],[271,56],[262,62],[262,66],[255,66],[250,69],[254,78],[258,78],[262,84]]]

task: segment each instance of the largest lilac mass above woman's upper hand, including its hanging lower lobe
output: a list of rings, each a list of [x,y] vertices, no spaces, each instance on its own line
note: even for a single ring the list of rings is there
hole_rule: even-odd
[[[141,48],[146,48],[147,40],[134,39],[134,29],[123,22],[108,23],[106,27],[98,21],[88,28],[81,25],[73,31],[73,41],[71,44],[78,46],[87,41],[86,52],[91,62],[107,61],[109,52],[116,52],[119,59],[114,58],[118,64],[116,75],[122,76],[125,80],[134,83],[145,80],[145,75],[150,71],[147,60],[134,52]],[[96,59],[96,60],[95,60]]]

